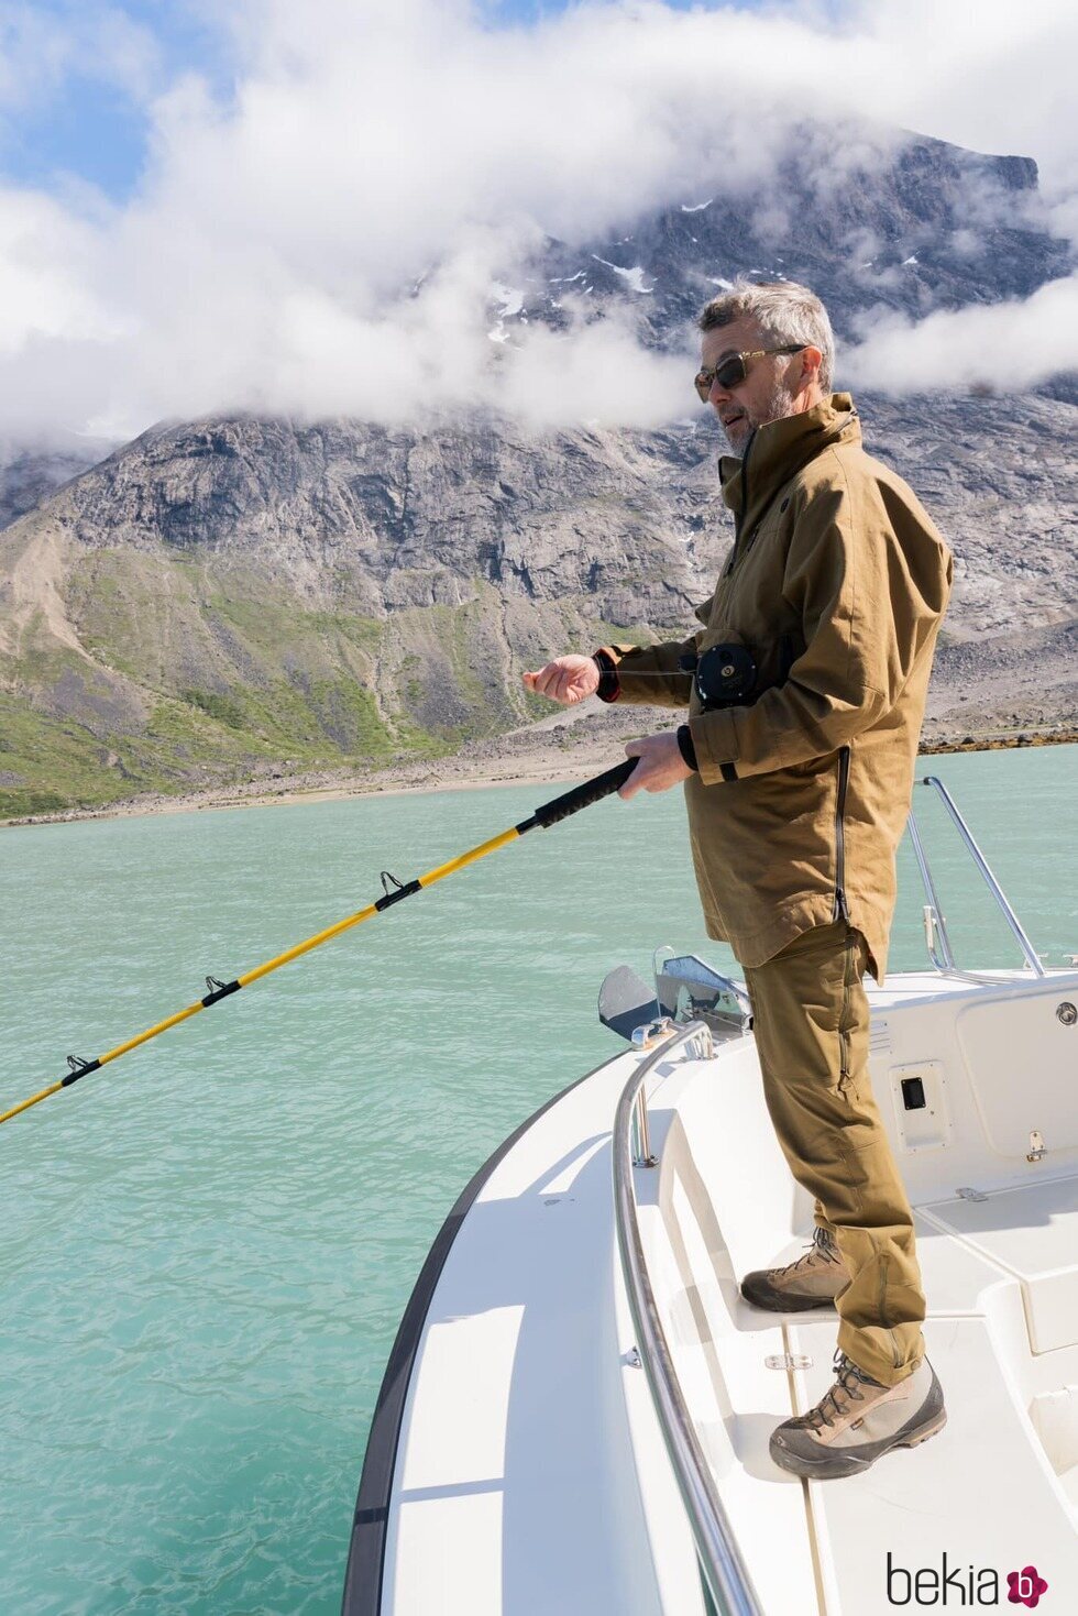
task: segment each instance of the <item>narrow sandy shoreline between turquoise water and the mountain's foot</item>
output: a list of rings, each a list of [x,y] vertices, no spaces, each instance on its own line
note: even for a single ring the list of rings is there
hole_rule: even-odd
[[[519,734],[519,732],[517,732]],[[388,768],[380,774],[349,774],[346,769],[314,771],[302,776],[284,776],[281,771],[263,777],[238,781],[231,785],[208,785],[197,792],[175,797],[152,793],[129,797],[100,808],[61,808],[55,813],[23,814],[0,819],[0,829],[24,826],[74,824],[82,819],[134,819],[149,814],[208,813],[231,808],[276,808],[297,803],[343,802],[349,797],[404,797],[423,792],[486,790],[498,785],[567,785],[588,774],[613,768],[624,735],[588,737],[572,747],[575,756],[566,758],[564,748],[522,745],[520,756],[469,758],[457,753],[438,763],[407,763]],[[524,740],[524,737],[522,737]],[[1078,726],[1051,730],[1026,729],[1020,732],[996,732],[983,735],[945,737],[921,740],[918,756],[939,756],[954,751],[1010,751],[1033,747],[1075,745]],[[280,784],[276,784],[280,781]]]

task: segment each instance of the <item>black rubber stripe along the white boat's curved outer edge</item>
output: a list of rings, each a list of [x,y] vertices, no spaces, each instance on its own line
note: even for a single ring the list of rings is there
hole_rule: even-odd
[[[396,1453],[401,1440],[404,1403],[407,1399],[412,1367],[415,1364],[415,1354],[423,1335],[423,1325],[427,1324],[430,1302],[441,1277],[441,1270],[446,1265],[449,1249],[457,1238],[464,1218],[470,1212],[472,1204],[486,1180],[491,1176],[503,1157],[509,1154],[517,1139],[520,1139],[553,1105],[558,1105],[566,1094],[572,1094],[572,1091],[579,1089],[582,1083],[588,1081],[588,1078],[593,1078],[598,1071],[603,1071],[604,1067],[611,1067],[616,1060],[621,1060],[624,1054],[627,1054],[627,1046],[616,1055],[611,1055],[609,1060],[603,1060],[592,1071],[585,1071],[585,1075],[577,1078],[575,1083],[569,1083],[564,1089],[546,1100],[545,1105],[540,1105],[537,1112],[532,1112],[532,1115],[498,1146],[495,1154],[483,1162],[480,1170],[469,1181],[467,1188],[461,1193],[453,1210],[449,1212],[449,1217],[438,1230],[435,1241],[427,1252],[419,1278],[415,1280],[412,1294],[407,1299],[407,1307],[404,1309],[404,1317],[401,1319],[393,1349],[390,1351],[390,1362],[386,1364],[373,1419],[370,1422],[370,1437],[367,1438],[367,1453],[364,1456],[359,1496],[356,1500],[356,1514],[352,1517],[352,1540],[347,1551],[341,1616],[380,1616],[381,1611],[381,1579],[385,1571],[386,1532],[390,1524],[390,1495],[393,1492],[393,1472],[396,1469]]]

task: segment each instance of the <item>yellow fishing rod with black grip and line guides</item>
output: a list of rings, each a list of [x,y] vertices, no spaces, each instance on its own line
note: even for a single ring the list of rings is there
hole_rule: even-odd
[[[469,848],[467,853],[459,853],[457,858],[451,858],[446,865],[438,865],[436,869],[428,869],[425,876],[417,876],[414,881],[398,881],[388,869],[383,869],[381,897],[373,903],[368,903],[367,908],[357,910],[356,915],[347,915],[344,920],[336,921],[335,926],[326,926],[325,931],[317,931],[314,937],[307,937],[305,942],[297,942],[293,949],[286,949],[284,953],[278,953],[273,960],[267,960],[265,965],[257,965],[252,971],[246,971],[242,976],[233,978],[231,983],[221,983],[217,976],[207,976],[207,992],[202,999],[196,999],[196,1002],[187,1005],[184,1010],[178,1010],[175,1015],[165,1016],[163,1021],[157,1021],[154,1026],[147,1028],[145,1033],[139,1033],[136,1037],[129,1037],[126,1042],[116,1044],[115,1049],[107,1050],[103,1055],[97,1055],[94,1060],[82,1060],[79,1055],[68,1055],[68,1071],[65,1076],[60,1078],[58,1083],[50,1083],[47,1089],[31,1094],[27,1100],[21,1100],[18,1105],[13,1105],[11,1110],[2,1112],[0,1123],[11,1122],[13,1117],[29,1110],[31,1105],[39,1105],[42,1100],[47,1100],[50,1094],[58,1094],[60,1089],[69,1089],[73,1083],[79,1081],[79,1078],[89,1076],[91,1071],[100,1071],[102,1067],[107,1067],[113,1060],[120,1060],[121,1055],[129,1054],[141,1044],[149,1044],[149,1041],[157,1037],[158,1033],[166,1033],[171,1026],[179,1026],[181,1021],[187,1021],[200,1010],[208,1010],[212,1005],[220,1004],[221,999],[238,994],[241,987],[251,987],[252,983],[268,976],[270,971],[278,971],[281,965],[289,965],[301,955],[310,953],[312,949],[328,942],[330,937],[339,937],[343,931],[349,931],[352,926],[362,926],[365,920],[373,920],[375,915],[381,915],[383,910],[391,908],[394,903],[401,903],[402,898],[411,898],[415,892],[422,892],[425,887],[433,887],[435,881],[443,881],[457,869],[464,869],[465,865],[474,865],[477,860],[485,858],[486,853],[493,853],[499,847],[507,847],[509,842],[516,842],[517,837],[527,835],[527,832],[535,831],[537,826],[548,831],[553,824],[559,824],[562,819],[567,819],[569,814],[579,813],[582,808],[590,808],[592,803],[601,802],[603,797],[609,797],[621,785],[624,785],[637,763],[638,758],[625,758],[624,763],[608,769],[604,774],[596,774],[593,779],[583,781],[582,785],[574,785],[572,790],[562,792],[561,797],[554,797],[551,802],[543,803],[533,814],[522,819],[520,824],[514,824],[509,831],[503,831],[501,835],[491,837],[490,842],[480,842],[478,847]]]

